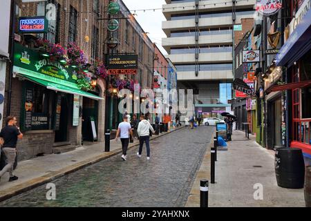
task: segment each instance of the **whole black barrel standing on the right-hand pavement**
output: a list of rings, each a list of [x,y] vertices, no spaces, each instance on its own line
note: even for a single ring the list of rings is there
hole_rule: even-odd
[[[305,180],[305,163],[300,148],[277,148],[275,174],[278,186],[301,189]]]

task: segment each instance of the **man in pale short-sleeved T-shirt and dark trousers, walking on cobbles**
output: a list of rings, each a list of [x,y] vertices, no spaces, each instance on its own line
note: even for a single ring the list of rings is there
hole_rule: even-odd
[[[127,115],[123,115],[123,122],[117,127],[117,135],[115,135],[115,141],[120,134],[120,140],[122,143],[122,160],[126,160],[126,151],[129,146],[130,135],[133,136],[131,124],[129,124]]]

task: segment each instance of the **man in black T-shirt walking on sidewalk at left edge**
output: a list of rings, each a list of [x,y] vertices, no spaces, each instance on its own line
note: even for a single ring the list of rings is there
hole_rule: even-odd
[[[16,125],[17,119],[14,116],[9,116],[6,118],[6,126],[2,128],[0,137],[3,138],[3,152],[6,155],[6,166],[0,171],[0,178],[7,171],[10,173],[9,182],[18,180],[19,177],[13,175],[13,166],[15,163],[16,157],[16,146],[17,139],[22,139],[23,134],[19,130],[19,127]]]

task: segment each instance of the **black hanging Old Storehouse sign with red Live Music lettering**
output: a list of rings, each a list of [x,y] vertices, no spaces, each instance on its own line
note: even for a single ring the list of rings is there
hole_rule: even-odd
[[[135,75],[138,69],[138,55],[109,55],[109,75]]]

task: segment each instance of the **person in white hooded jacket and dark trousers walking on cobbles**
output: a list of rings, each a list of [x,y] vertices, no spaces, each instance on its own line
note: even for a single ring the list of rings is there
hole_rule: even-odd
[[[147,160],[150,160],[150,145],[149,145],[149,130],[155,133],[151,124],[145,119],[144,115],[140,116],[140,123],[138,124],[138,135],[140,136],[140,149],[137,153],[138,157],[142,157],[142,146],[144,142],[147,148]]]

